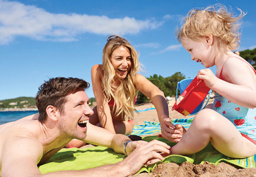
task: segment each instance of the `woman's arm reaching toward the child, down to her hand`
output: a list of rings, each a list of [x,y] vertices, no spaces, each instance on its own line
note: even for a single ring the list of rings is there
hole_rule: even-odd
[[[161,124],[162,136],[169,141],[179,141],[185,129],[183,129],[182,126],[176,128],[171,123],[171,118],[169,118],[168,104],[163,92],[140,74],[136,75],[135,86],[145,96],[152,100]]]

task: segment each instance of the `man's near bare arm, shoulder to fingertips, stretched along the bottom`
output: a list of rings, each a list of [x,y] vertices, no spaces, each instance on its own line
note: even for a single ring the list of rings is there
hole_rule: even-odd
[[[150,143],[140,145],[127,158],[116,164],[100,166],[88,170],[59,171],[42,175],[38,170],[37,163],[42,158],[44,150],[43,146],[36,139],[32,138],[10,138],[7,142],[5,142],[5,146],[3,148],[2,176],[125,177],[138,172],[142,165],[147,163],[152,158],[162,160],[163,157],[158,153],[159,151],[165,153],[170,152],[169,149],[159,145],[158,142],[160,141],[151,141]]]

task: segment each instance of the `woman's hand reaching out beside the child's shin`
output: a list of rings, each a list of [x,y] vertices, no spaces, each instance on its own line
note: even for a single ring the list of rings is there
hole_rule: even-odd
[[[176,126],[171,123],[171,118],[163,118],[161,121],[161,133],[162,137],[171,142],[179,142],[186,129],[177,124]]]

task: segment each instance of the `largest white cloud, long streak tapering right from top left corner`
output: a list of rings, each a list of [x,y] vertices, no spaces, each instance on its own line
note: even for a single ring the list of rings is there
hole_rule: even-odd
[[[79,34],[136,34],[156,29],[163,22],[135,18],[109,18],[87,14],[54,14],[33,5],[0,0],[0,44],[11,43],[16,36],[36,40],[76,41]]]

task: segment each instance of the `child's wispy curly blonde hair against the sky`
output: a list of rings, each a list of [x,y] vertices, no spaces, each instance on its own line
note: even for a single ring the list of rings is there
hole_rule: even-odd
[[[205,9],[192,9],[182,20],[182,27],[176,29],[176,36],[181,42],[183,36],[199,41],[200,38],[212,34],[216,46],[222,51],[224,46],[230,50],[238,49],[240,44],[240,21],[246,13],[240,11],[234,16],[222,4],[215,4]]]

